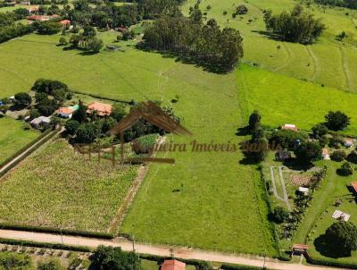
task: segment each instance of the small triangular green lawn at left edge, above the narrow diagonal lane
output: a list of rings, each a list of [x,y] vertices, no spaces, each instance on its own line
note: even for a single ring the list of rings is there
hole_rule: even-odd
[[[22,126],[23,122],[10,117],[0,118],[0,164],[39,135],[32,129],[23,130]]]

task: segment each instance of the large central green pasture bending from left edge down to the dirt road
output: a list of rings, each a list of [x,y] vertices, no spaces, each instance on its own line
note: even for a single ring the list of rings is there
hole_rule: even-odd
[[[101,35],[105,43],[115,39],[115,33]],[[195,134],[187,142],[241,140],[235,136],[244,123],[234,73],[203,72],[191,64],[139,51],[133,42],[119,43],[124,52],[81,55],[56,46],[59,38],[29,35],[0,45],[0,57],[8,63],[0,72],[5,79],[0,80],[0,89],[10,95],[29,89],[37,78],[49,78],[82,93],[124,100],[162,100],[169,105],[179,95],[174,109]],[[179,139],[184,138],[175,141]],[[240,165],[238,152],[174,155],[175,166],[151,166],[120,232],[134,233],[142,241],[260,254],[267,250],[270,256],[277,255],[255,167]],[[185,190],[172,193],[181,183]],[[56,222],[57,218],[49,221]]]

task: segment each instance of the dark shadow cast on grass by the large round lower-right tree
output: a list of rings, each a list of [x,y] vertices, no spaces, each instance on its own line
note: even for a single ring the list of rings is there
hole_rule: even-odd
[[[315,249],[324,257],[351,257],[351,251],[340,249],[336,242],[329,240],[326,234],[320,235],[313,241]]]

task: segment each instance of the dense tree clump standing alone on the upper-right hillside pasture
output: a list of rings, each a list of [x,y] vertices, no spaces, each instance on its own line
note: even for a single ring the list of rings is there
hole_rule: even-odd
[[[264,12],[264,21],[267,30],[277,38],[301,44],[311,44],[320,37],[324,24],[316,20],[311,13],[303,10],[300,4],[290,12],[272,15],[271,10]]]

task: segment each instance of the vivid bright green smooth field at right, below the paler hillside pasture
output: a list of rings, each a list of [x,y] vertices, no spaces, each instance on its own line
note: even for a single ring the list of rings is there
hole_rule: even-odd
[[[295,123],[310,130],[324,121],[329,110],[341,110],[351,117],[346,133],[357,135],[357,95],[296,80],[274,72],[242,65],[237,72],[242,89],[240,101],[246,112],[257,109],[262,123],[272,128]]]

